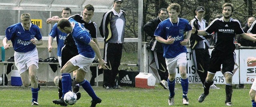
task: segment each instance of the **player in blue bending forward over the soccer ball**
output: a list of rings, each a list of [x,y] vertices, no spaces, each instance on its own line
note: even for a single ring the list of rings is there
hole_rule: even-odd
[[[69,18],[68,20],[61,19],[58,21],[57,27],[60,31],[72,35],[79,53],[71,58],[60,70],[62,76],[62,98],[65,93],[71,91],[71,76],[69,73],[76,70],[76,82],[92,97],[91,107],[95,107],[102,100],[96,96],[90,83],[86,82],[84,77],[95,58],[95,54],[98,56],[99,69],[107,69],[108,66],[106,66],[106,63],[102,59],[98,46],[92,41],[90,33],[88,33],[88,30],[81,23],[78,23],[73,18]],[[65,105],[64,103],[63,99],[58,100],[58,104]]]

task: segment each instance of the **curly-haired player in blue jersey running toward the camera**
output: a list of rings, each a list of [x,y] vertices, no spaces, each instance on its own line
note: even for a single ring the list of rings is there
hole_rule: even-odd
[[[170,91],[168,104],[174,105],[174,87],[176,67],[179,68],[181,76],[181,86],[183,90],[182,103],[188,105],[188,77],[186,74],[187,66],[187,49],[186,46],[190,36],[192,27],[188,20],[178,18],[180,14],[180,5],[176,3],[170,4],[167,8],[170,18],[159,23],[154,35],[156,40],[163,43],[164,58],[169,73],[168,87]],[[186,32],[186,39],[184,37]]]

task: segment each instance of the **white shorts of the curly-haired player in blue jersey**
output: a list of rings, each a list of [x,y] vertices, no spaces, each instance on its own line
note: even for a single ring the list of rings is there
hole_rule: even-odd
[[[168,73],[174,74],[178,66],[187,66],[187,53],[181,53],[174,58],[165,58],[165,62]]]

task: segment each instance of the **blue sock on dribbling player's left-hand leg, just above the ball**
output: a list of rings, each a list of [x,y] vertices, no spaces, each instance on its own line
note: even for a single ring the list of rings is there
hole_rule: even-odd
[[[61,76],[62,76],[61,83],[62,83],[62,93],[63,93],[62,98],[64,98],[65,93],[67,93],[68,91],[72,91],[71,76],[69,73],[61,74]]]

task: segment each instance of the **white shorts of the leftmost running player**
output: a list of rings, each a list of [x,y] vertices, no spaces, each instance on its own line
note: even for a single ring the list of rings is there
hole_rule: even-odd
[[[19,70],[19,74],[28,70],[28,67],[31,65],[36,65],[38,69],[38,51],[35,48],[33,51],[26,53],[14,52],[14,62],[15,66]]]

